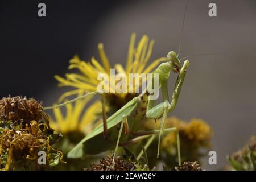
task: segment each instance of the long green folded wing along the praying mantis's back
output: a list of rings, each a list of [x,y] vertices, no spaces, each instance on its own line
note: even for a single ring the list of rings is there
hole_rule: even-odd
[[[138,97],[134,97],[133,100],[127,102],[121,109],[115,112],[112,116],[107,119],[108,129],[117,125],[122,121],[123,116],[131,114],[138,104]],[[103,123],[82,139],[71,151],[68,152],[68,158],[81,158],[83,156],[83,143],[87,140],[96,137],[96,135],[103,133]]]

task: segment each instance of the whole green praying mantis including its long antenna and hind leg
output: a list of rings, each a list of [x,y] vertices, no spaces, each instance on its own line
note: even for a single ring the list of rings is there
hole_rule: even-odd
[[[188,1],[187,1],[188,5]],[[185,14],[187,10],[187,5],[185,7]],[[184,19],[185,19],[184,14]],[[183,19],[183,27],[184,27],[184,19]],[[181,31],[181,38],[183,34],[183,27]],[[179,44],[179,52],[181,47],[181,39]],[[137,143],[143,139],[149,138],[143,147],[143,150],[139,152],[137,155],[137,160],[141,158],[143,155],[143,151],[145,151],[152,141],[155,139],[156,135],[158,135],[158,152],[157,156],[159,156],[160,152],[160,139],[163,133],[167,132],[175,132],[176,140],[177,140],[177,155],[178,162],[181,165],[181,156],[180,156],[180,138],[179,132],[175,127],[165,128],[167,114],[175,109],[177,105],[177,100],[180,95],[180,91],[185,79],[185,75],[187,73],[187,69],[189,67],[189,60],[185,60],[183,64],[181,64],[182,59],[179,59],[179,53],[176,54],[174,51],[171,51],[167,54],[167,61],[159,65],[158,68],[153,72],[153,77],[151,83],[154,82],[155,75],[158,75],[159,78],[159,89],[162,90],[163,102],[155,105],[155,100],[150,99],[150,93],[148,92],[148,88],[144,90],[139,96],[134,97],[132,100],[127,102],[121,109],[116,111],[113,115],[111,115],[108,119],[106,118],[106,110],[105,110],[105,97],[104,93],[101,94],[101,102],[102,102],[102,118],[103,123],[96,127],[92,131],[92,133],[86,135],[84,139],[82,139],[71,151],[68,153],[68,158],[81,158],[84,154],[98,154],[100,152],[106,150],[114,150],[113,160],[115,155],[118,152],[118,147],[127,147],[133,146],[131,144]],[[170,78],[171,72],[179,73],[176,78],[176,83],[174,87],[174,91],[172,93],[172,97],[170,100],[169,92],[168,92],[168,80]],[[84,96],[77,97],[71,101],[65,102],[60,105],[56,105],[53,107],[45,107],[46,109],[53,109],[55,107],[60,107],[66,105],[71,102],[75,102],[76,100],[82,99],[86,96],[92,94],[100,94],[97,91],[87,93]],[[143,122],[146,122],[147,119],[160,119],[160,129],[159,130],[146,130],[141,131],[141,126]],[[119,132],[117,130],[119,127]],[[124,132],[123,132],[124,131]],[[106,140],[102,140],[102,138]],[[117,141],[115,144],[113,141]],[[133,147],[131,147],[133,148]]]

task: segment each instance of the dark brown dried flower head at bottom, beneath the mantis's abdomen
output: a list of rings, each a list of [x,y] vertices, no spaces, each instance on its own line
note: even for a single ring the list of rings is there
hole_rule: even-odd
[[[92,164],[92,168],[84,169],[85,171],[133,171],[135,170],[135,164],[127,160],[121,159],[117,156],[113,160],[113,156],[108,155],[106,158],[100,159],[100,164]]]

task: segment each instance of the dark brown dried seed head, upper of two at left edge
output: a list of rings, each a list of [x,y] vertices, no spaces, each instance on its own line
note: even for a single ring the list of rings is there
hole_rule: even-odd
[[[42,102],[34,98],[3,97],[0,100],[0,120],[13,120],[29,124],[31,121],[49,122],[43,112]]]

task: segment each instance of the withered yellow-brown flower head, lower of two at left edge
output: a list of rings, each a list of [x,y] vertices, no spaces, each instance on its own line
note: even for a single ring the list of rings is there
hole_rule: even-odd
[[[39,151],[46,152],[46,165],[38,164]],[[5,170],[49,169],[51,151],[62,158],[62,153],[51,147],[47,126],[44,123],[32,121],[24,128],[20,123],[14,129],[6,128],[0,133],[0,162],[5,163]],[[26,168],[31,165],[32,168]]]

